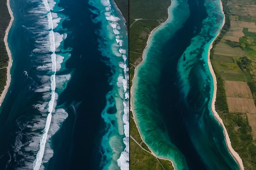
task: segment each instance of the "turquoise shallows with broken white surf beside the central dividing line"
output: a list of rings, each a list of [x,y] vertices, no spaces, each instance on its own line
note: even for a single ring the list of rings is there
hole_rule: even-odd
[[[97,23],[101,21],[99,35],[99,51],[110,61],[106,62],[112,68],[114,75],[110,77],[113,85],[112,91],[106,95],[107,104],[101,117],[108,127],[106,134],[101,141],[104,150],[104,157],[101,166],[103,169],[129,169],[129,68],[127,67],[128,57],[128,34],[124,17],[121,15],[114,1],[101,0],[99,2],[90,1],[92,6],[101,11],[98,17],[93,19]],[[92,11],[95,12],[95,11]],[[123,18],[120,19],[120,18]],[[106,36],[108,35],[108,36]],[[108,109],[116,108],[115,115],[109,114]],[[117,122],[117,126],[112,122]],[[121,139],[121,140],[120,140]],[[125,145],[125,147],[124,147]]]

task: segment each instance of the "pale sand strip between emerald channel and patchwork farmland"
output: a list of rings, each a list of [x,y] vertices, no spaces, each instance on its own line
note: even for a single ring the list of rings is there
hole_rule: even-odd
[[[221,10],[222,10],[222,14],[224,15],[224,19],[223,19],[222,26],[221,26],[221,29],[222,29],[222,27],[225,24],[225,14],[224,14],[224,11],[223,11],[223,6],[222,6],[221,0],[220,0],[220,7],[221,7]],[[218,33],[218,35],[219,34],[220,34],[220,32]],[[218,35],[216,36],[216,38],[218,37]],[[215,101],[216,101],[216,93],[217,93],[217,79],[216,79],[216,75],[214,74],[213,67],[211,65],[211,60],[210,60],[210,50],[212,48],[212,44],[213,44],[213,42],[211,42],[211,46],[208,50],[208,65],[209,65],[209,69],[210,69],[210,72],[211,72],[211,75],[212,75],[213,81],[214,81],[213,99],[211,101],[211,111],[212,111],[214,117],[218,120],[218,122],[220,123],[220,125],[223,128],[224,135],[225,135],[225,141],[226,141],[227,148],[228,148],[229,152],[231,153],[231,155],[234,157],[234,159],[238,163],[238,166],[239,166],[240,170],[244,170],[243,161],[240,158],[240,156],[238,155],[238,153],[232,148],[231,141],[230,141],[229,135],[227,133],[227,129],[225,128],[222,119],[220,119],[220,116],[218,115],[218,113],[215,110]]]

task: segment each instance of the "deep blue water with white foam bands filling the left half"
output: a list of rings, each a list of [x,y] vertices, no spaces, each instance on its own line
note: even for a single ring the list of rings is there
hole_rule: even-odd
[[[10,5],[0,169],[128,169],[128,38],[114,2]]]

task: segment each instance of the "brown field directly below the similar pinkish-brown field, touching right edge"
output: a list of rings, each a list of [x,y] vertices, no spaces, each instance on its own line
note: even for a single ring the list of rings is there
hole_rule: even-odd
[[[227,97],[229,112],[256,113],[253,99],[242,97]]]

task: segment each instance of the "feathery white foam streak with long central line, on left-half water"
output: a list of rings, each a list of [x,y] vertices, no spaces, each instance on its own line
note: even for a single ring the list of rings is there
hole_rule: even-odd
[[[61,70],[63,54],[61,53],[62,42],[66,35],[62,35],[55,29],[62,30],[59,23],[64,17],[58,17],[54,13],[54,0],[29,0],[33,8],[29,9],[27,22],[24,26],[34,39],[34,50],[31,51],[31,64],[34,70],[30,77],[28,71],[24,71],[25,77],[31,79],[33,84],[30,91],[36,93],[38,101],[34,103],[36,115],[32,115],[30,120],[20,117],[16,123],[20,128],[17,132],[16,141],[13,146],[13,155],[18,164],[18,170],[45,169],[45,164],[53,156],[50,146],[51,137],[67,118],[68,114],[63,108],[57,108],[58,91],[63,91],[63,87],[70,79],[70,74],[58,75]],[[60,14],[63,15],[63,14]],[[32,23],[29,25],[29,23]],[[65,30],[62,30],[62,32]],[[65,53],[67,53],[65,51]],[[24,140],[26,139],[26,140]],[[24,141],[26,141],[24,143]]]

